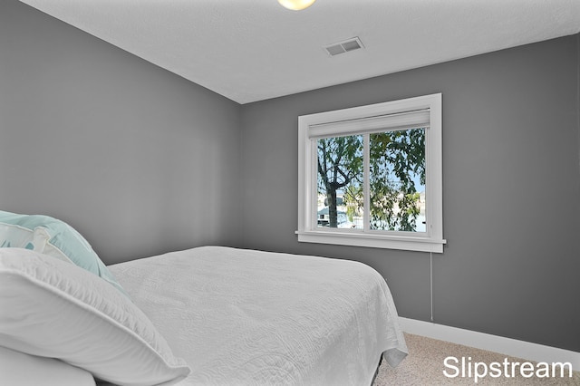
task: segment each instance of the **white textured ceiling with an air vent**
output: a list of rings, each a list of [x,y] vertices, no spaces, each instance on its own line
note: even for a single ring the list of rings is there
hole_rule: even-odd
[[[21,1],[239,103],[580,32],[580,0]]]

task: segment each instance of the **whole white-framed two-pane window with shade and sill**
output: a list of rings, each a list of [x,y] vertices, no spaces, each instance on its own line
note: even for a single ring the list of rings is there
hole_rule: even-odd
[[[443,252],[441,94],[298,119],[298,241]]]

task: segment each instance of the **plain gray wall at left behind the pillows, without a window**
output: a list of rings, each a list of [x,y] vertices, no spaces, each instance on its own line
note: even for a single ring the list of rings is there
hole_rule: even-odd
[[[240,106],[0,2],[0,207],[62,218],[107,264],[241,242]]]

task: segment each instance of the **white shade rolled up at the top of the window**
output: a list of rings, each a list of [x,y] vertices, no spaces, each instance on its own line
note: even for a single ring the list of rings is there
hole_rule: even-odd
[[[340,137],[379,131],[427,128],[430,125],[430,110],[405,111],[394,114],[366,117],[357,120],[335,121],[312,124],[308,138]]]

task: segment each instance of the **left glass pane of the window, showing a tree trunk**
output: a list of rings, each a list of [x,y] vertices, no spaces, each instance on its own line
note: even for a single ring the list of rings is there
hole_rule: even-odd
[[[317,227],[362,229],[362,135],[323,138],[317,149]]]

